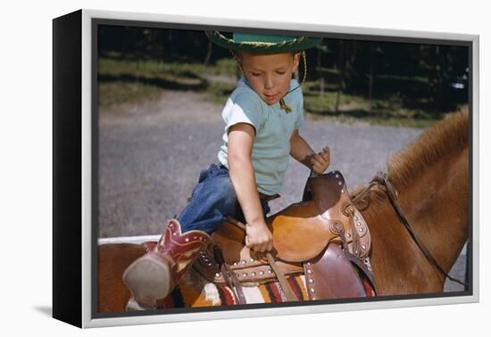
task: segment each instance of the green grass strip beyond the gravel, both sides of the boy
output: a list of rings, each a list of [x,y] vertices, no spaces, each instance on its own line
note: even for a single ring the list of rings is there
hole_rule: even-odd
[[[336,75],[335,70],[325,73]],[[122,103],[142,103],[158,99],[163,89],[201,90],[207,101],[224,104],[235,87],[237,65],[232,58],[214,65],[199,63],[169,63],[152,60],[125,61],[111,58],[99,60],[99,103],[113,107]],[[211,79],[209,79],[211,78]],[[390,78],[390,77],[386,77]],[[391,78],[407,83],[425,85],[425,78]],[[306,82],[304,109],[310,119],[332,119],[345,123],[356,121],[395,127],[428,127],[440,116],[435,111],[409,109],[404,97],[397,92],[373,99],[370,103],[362,95],[340,95],[338,109],[337,86],[326,81],[320,95],[318,81]],[[418,102],[412,99],[412,102]],[[421,104],[424,105],[424,104]]]

